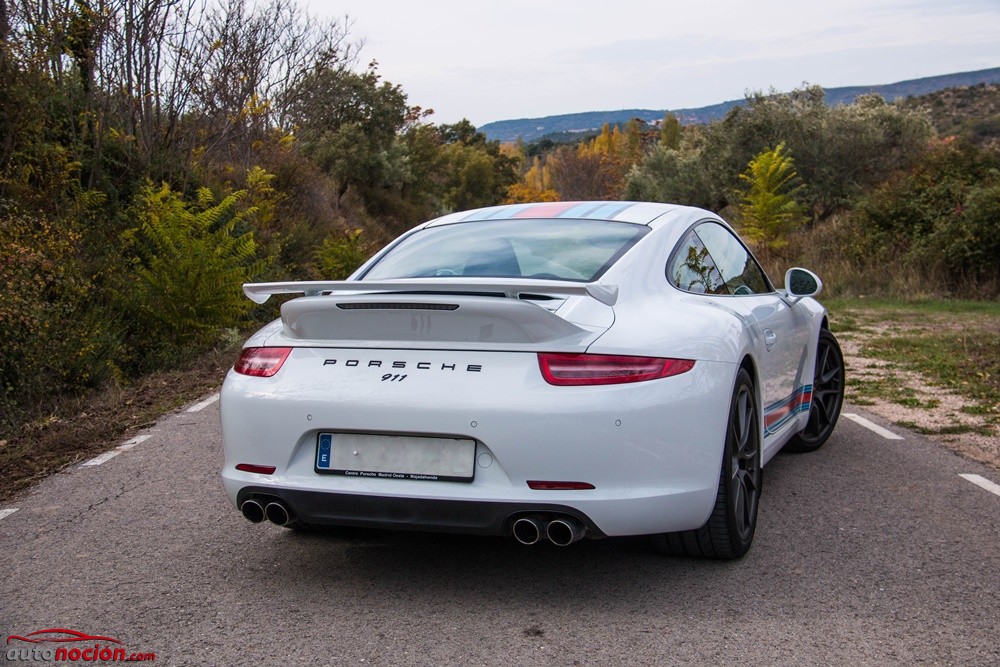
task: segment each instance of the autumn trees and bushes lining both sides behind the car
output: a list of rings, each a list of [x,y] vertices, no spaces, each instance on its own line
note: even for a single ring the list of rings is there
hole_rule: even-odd
[[[294,0],[0,0],[8,489],[72,460],[45,454],[45,433],[62,434],[56,451],[88,449],[86,436],[45,430],[96,414],[87,397],[146,396],[150,377],[218,359],[272,317],[240,283],[342,278],[402,230],[454,210],[702,206],[740,227],[779,281],[802,265],[827,296],[865,297],[835,302],[841,326],[858,332],[878,319],[871,304],[900,327],[910,317],[873,297],[1000,295],[1000,87],[828,107],[806,86],[753,93],[708,125],[668,115],[501,145],[411,106],[348,26]],[[927,312],[916,308],[915,319]],[[961,331],[879,333],[866,349],[940,373],[989,416],[1000,357],[989,313]],[[929,320],[950,324],[936,311]],[[25,473],[26,460],[37,466]]]

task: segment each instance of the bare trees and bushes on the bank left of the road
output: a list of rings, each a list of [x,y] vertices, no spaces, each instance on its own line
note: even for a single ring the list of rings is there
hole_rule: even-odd
[[[176,368],[517,163],[292,0],[0,0],[0,440]]]

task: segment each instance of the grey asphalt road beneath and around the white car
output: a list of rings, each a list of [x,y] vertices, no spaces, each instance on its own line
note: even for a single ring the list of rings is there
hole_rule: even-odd
[[[213,403],[0,507],[0,636],[74,629],[158,665],[1000,665],[1000,496],[959,476],[1000,474],[893,430],[842,419],[778,456],[752,550],[718,563],[252,525]]]

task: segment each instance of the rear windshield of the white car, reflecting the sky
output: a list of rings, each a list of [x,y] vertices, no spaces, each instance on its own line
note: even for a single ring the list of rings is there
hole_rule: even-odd
[[[649,228],[598,220],[495,220],[430,227],[393,247],[363,280],[541,278],[593,282]]]

